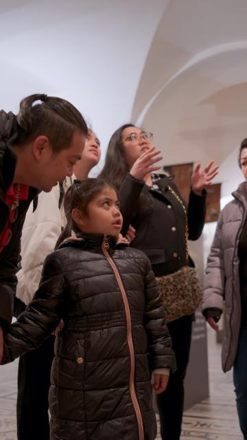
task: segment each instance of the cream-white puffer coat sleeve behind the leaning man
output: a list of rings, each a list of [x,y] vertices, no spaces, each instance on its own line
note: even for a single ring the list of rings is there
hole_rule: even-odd
[[[27,211],[21,237],[21,269],[17,273],[16,297],[26,305],[38,289],[45,257],[54,251],[62,220],[58,207],[59,187],[38,195],[38,206]]]

